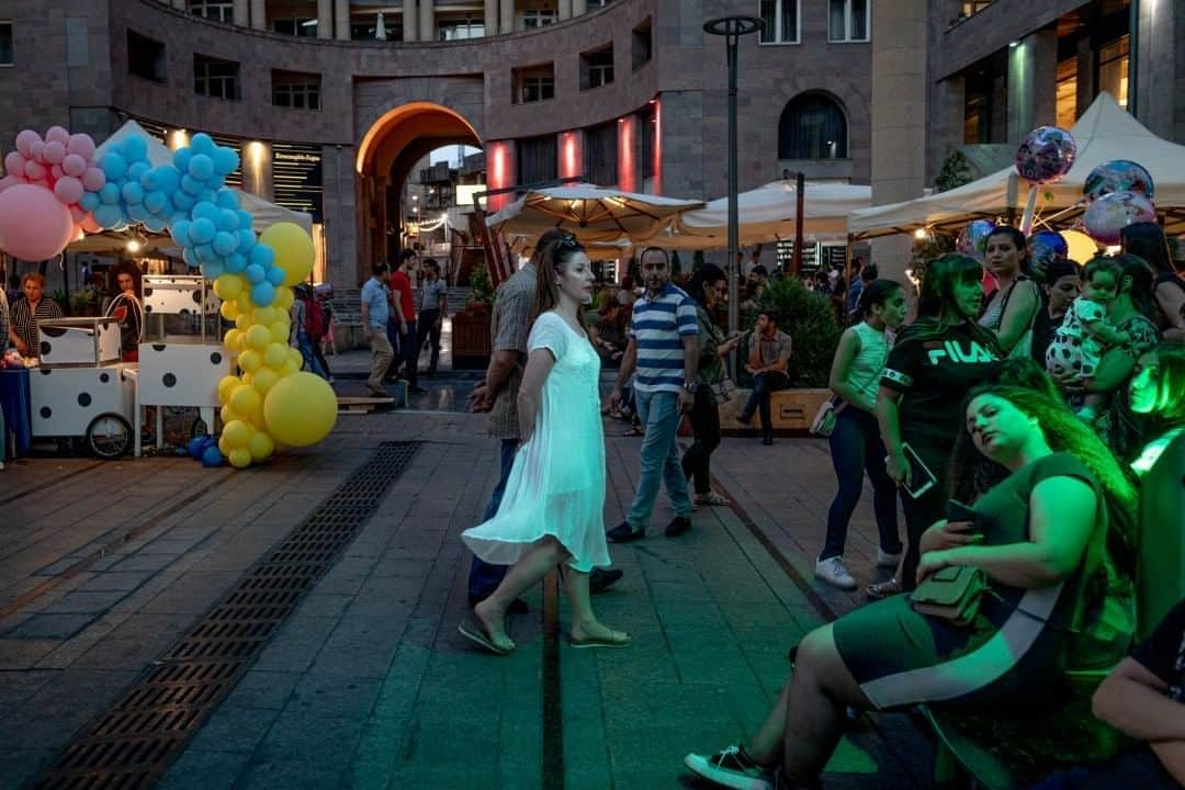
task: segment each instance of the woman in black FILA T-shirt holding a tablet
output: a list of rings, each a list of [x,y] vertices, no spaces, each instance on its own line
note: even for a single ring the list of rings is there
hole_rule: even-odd
[[[869,595],[912,590],[918,541],[942,518],[950,437],[961,423],[967,392],[987,380],[1003,355],[995,335],[975,323],[982,301],[980,265],[950,253],[931,261],[918,296],[918,317],[897,336],[877,396],[877,422],[889,451],[889,476],[907,489],[923,477],[933,484],[902,496],[908,538],[901,576],[869,587]],[[914,468],[905,447],[925,467]]]

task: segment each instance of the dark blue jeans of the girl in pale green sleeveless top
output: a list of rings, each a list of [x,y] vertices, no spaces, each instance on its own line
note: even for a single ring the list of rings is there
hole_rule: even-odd
[[[847,540],[847,524],[860,501],[864,473],[872,481],[872,512],[880,533],[880,551],[901,553],[897,534],[897,486],[885,469],[885,445],[880,442],[877,418],[870,412],[847,405],[835,416],[831,433],[831,463],[835,468],[839,488],[827,510],[827,541],[819,559],[843,557]]]

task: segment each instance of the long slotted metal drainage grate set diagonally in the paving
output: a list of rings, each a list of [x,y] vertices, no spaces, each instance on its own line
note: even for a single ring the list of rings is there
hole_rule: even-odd
[[[37,790],[152,786],[230,693],[301,597],[329,570],[411,462],[418,442],[384,442],[252,565],[85,733]]]

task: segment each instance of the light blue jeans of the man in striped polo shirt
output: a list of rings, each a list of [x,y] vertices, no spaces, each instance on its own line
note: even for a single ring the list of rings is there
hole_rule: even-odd
[[[675,515],[691,516],[691,499],[675,443],[680,419],[679,396],[674,392],[636,392],[635,397],[638,417],[646,426],[646,436],[642,437],[641,479],[626,521],[634,529],[645,529],[654,513],[660,483],[666,484]]]

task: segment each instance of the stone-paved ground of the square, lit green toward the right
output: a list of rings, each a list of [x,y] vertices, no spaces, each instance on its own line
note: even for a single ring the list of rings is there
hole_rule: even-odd
[[[638,475],[639,441],[621,428],[607,423],[608,526]],[[731,508],[702,508],[688,534],[664,538],[672,513],[660,497],[651,535],[611,547],[626,578],[594,600],[635,646],[561,640],[552,667],[539,590],[512,623],[513,655],[456,634],[468,570],[457,534],[497,482],[497,443],[482,432],[463,413],[346,416],[315,450],[245,473],[171,458],[43,458],[0,473],[0,789],[43,770],[379,442],[410,438],[425,444],[378,513],[159,786],[707,786],[683,756],[751,733],[789,647],[859,603],[811,580],[834,492],[826,444],[728,438],[713,456],[722,488],[798,578]],[[861,583],[877,578],[870,512],[861,502],[850,540]],[[561,602],[561,636],[566,622]],[[561,733],[545,732],[550,670]],[[545,759],[556,740],[562,759]],[[927,751],[903,717],[865,720],[826,786],[924,786]]]

